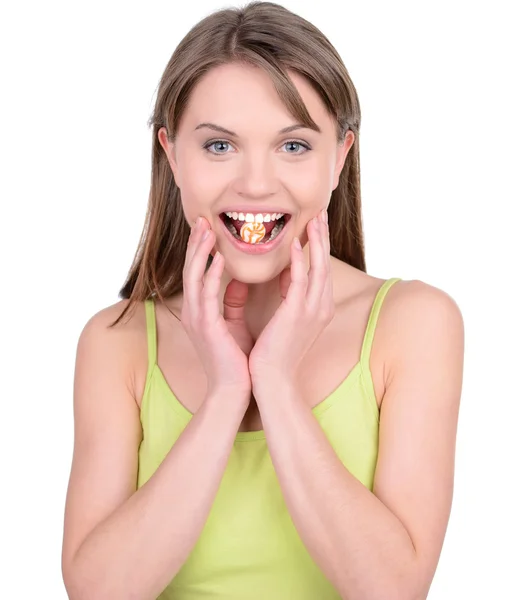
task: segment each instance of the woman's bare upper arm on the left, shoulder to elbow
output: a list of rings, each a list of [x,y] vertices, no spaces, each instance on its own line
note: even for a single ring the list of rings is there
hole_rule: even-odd
[[[74,453],[62,549],[64,579],[86,536],[136,490],[142,433],[132,390],[132,348],[126,343],[124,325],[107,327],[119,314],[120,304],[94,315],[77,345]]]

